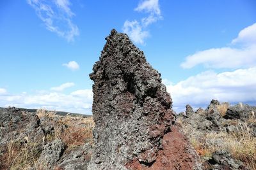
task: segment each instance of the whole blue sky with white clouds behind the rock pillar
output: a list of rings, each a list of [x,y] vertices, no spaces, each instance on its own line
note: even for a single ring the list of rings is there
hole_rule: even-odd
[[[111,29],[162,75],[173,109],[212,98],[256,104],[256,1],[0,2],[0,106],[91,113],[92,81]]]

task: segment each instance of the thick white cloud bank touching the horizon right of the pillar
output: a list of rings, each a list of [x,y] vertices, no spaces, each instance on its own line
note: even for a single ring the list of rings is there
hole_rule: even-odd
[[[256,101],[256,67],[232,72],[204,73],[191,76],[177,84],[167,83],[166,89],[173,99],[173,108],[184,109],[186,104],[207,106],[211,99],[230,103]]]

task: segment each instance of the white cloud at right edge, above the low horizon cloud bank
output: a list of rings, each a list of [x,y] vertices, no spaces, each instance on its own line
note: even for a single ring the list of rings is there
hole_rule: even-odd
[[[212,68],[256,66],[256,24],[246,27],[233,39],[233,47],[211,48],[186,57],[180,65],[189,69],[199,64]]]

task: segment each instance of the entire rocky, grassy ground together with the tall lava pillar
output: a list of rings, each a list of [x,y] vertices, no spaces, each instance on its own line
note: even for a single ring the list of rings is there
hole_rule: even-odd
[[[0,169],[256,169],[256,108],[176,114],[126,34],[111,31],[90,78],[93,117],[0,108]]]

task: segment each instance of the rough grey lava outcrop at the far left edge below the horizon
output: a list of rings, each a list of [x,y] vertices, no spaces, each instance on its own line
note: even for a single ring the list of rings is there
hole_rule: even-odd
[[[0,110],[0,151],[9,141],[26,143],[40,141],[44,131],[40,119],[35,113],[21,111],[19,108],[1,108]]]

